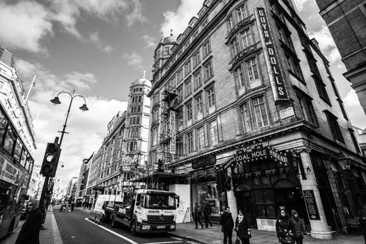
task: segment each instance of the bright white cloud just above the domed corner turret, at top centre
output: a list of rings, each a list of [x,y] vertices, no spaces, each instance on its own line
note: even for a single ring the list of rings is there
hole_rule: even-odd
[[[183,33],[188,26],[188,22],[193,16],[196,16],[202,7],[204,0],[181,0],[181,4],[176,11],[167,11],[163,13],[164,22],[160,25],[162,36],[169,36],[170,29],[174,36]]]

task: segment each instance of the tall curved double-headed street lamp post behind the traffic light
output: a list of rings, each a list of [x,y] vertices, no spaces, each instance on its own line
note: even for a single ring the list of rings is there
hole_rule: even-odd
[[[65,123],[63,124],[63,129],[61,131],[59,131],[59,130],[57,131],[57,132],[60,132],[61,133],[61,139],[60,139],[60,142],[59,142],[59,148],[61,148],[61,144],[62,144],[62,141],[63,141],[63,135],[65,133],[68,134],[68,132],[65,131],[66,130],[66,126],[67,126],[66,124],[68,123],[68,116],[70,114],[70,109],[71,109],[71,105],[73,104],[74,98],[82,98],[82,99],[84,99],[84,104],[81,107],[79,107],[79,109],[82,110],[82,112],[86,112],[86,111],[89,110],[89,108],[86,107],[86,99],[83,96],[81,96],[81,95],[75,95],[75,89],[73,90],[72,93],[70,93],[68,91],[60,91],[57,94],[57,96],[51,100],[51,102],[54,105],[61,104],[61,101],[59,100],[59,96],[61,94],[63,94],[63,93],[68,94],[68,96],[70,96],[71,99],[70,99],[70,104],[68,105],[68,113],[66,114],[66,120],[65,120]],[[58,137],[56,137],[55,143],[57,143],[57,141],[58,141]],[[56,161],[56,167],[59,164],[59,161],[58,160],[59,160],[59,155],[58,155],[58,159]],[[43,208],[43,203],[45,201],[45,193],[47,191],[47,185],[48,185],[48,183],[49,183],[49,176],[45,176],[45,183],[43,184],[42,195],[40,196],[40,207],[41,208]]]

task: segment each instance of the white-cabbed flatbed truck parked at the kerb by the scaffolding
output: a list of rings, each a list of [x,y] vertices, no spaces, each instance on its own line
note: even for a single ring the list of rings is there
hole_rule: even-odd
[[[179,197],[174,192],[135,189],[117,200],[104,204],[103,220],[110,220],[111,227],[123,224],[132,235],[176,230]]]

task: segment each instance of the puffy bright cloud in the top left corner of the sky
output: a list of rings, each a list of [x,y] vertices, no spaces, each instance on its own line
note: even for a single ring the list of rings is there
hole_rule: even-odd
[[[40,41],[53,35],[47,9],[33,1],[0,1],[0,29],[1,45],[36,53],[46,52]]]

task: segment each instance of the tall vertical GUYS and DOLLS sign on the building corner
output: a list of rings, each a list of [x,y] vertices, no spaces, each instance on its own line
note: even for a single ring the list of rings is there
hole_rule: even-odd
[[[270,32],[270,26],[266,16],[264,8],[257,8],[259,16],[259,24],[262,30],[262,37],[264,39],[264,45],[267,47],[268,59],[270,65],[270,73],[272,73],[272,91],[275,96],[275,101],[289,100],[289,92],[287,91],[286,84],[284,83],[284,77],[282,74],[280,62],[275,49],[275,43],[273,42],[273,36]]]

